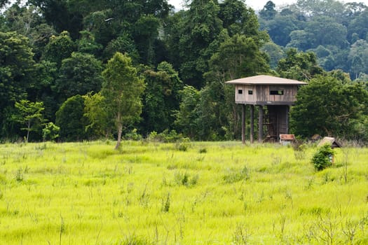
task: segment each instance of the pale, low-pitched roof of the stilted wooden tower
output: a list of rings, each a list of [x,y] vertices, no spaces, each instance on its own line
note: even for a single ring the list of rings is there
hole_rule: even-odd
[[[307,84],[299,80],[278,78],[276,76],[267,76],[267,75],[249,76],[247,78],[229,80],[226,83],[245,84],[245,85],[304,85],[304,84]]]

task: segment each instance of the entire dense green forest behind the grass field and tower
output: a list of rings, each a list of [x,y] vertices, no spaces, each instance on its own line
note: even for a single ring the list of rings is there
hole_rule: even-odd
[[[368,141],[367,6],[186,4],[1,0],[0,141],[239,139],[224,82],[258,74],[308,82],[292,133]]]

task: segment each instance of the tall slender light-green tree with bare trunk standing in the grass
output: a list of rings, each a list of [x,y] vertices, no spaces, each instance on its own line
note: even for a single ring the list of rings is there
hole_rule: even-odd
[[[118,130],[115,149],[121,144],[123,126],[133,123],[142,112],[141,96],[144,81],[137,76],[137,69],[127,55],[116,52],[102,72],[104,83],[101,93],[106,99]]]

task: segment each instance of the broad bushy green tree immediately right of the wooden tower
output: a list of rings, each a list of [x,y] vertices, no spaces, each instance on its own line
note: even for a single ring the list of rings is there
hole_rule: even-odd
[[[317,76],[297,94],[291,111],[292,132],[302,137],[320,134],[354,139],[367,98],[368,92],[360,83],[343,83],[334,74]]]

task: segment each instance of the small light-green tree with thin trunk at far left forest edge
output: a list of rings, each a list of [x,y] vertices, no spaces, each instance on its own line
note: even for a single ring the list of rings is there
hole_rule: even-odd
[[[29,102],[27,99],[22,99],[20,102],[15,102],[15,108],[18,113],[13,116],[13,119],[26,126],[21,130],[27,131],[25,141],[28,142],[29,133],[38,130],[43,123],[43,102]]]

